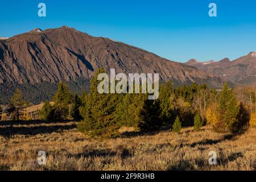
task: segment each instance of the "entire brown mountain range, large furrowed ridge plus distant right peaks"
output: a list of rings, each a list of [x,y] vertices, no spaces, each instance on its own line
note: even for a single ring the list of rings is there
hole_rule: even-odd
[[[197,82],[220,88],[224,82],[256,82],[254,62],[255,52],[251,52],[234,61],[224,59],[200,63],[189,60],[183,64],[67,26],[47,30],[35,28],[24,34],[0,39],[0,92],[4,90],[6,99],[2,102],[6,102],[14,85],[23,88],[23,92],[27,92],[27,89],[22,85],[35,88],[31,92],[40,92],[40,84],[44,88],[55,85],[56,89],[57,82],[65,81],[82,90],[84,88],[77,84],[77,80],[84,83],[81,80],[89,80],[98,68],[104,68],[106,72],[114,68],[116,73],[159,73],[161,81],[171,80],[174,85]],[[36,102],[50,98],[49,93],[45,95],[37,98]],[[30,101],[34,102],[34,98]]]

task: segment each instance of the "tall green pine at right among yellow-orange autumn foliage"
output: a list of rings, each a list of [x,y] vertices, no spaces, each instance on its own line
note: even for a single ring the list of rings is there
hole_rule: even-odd
[[[217,106],[218,121],[214,129],[221,133],[233,131],[233,125],[239,122],[237,119],[238,112],[239,107],[236,98],[232,90],[228,88],[228,84],[224,84]]]

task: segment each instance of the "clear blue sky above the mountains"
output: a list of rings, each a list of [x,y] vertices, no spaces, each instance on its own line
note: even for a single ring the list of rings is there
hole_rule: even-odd
[[[46,3],[47,16],[38,16]],[[208,5],[217,5],[209,17]],[[0,36],[67,25],[184,62],[236,59],[256,51],[253,0],[1,1]]]

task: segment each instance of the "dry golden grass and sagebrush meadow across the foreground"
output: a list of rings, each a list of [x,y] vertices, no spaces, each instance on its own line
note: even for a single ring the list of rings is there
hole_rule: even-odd
[[[46,151],[45,165],[38,152]],[[217,152],[217,165],[208,163]],[[88,139],[76,122],[0,122],[0,170],[255,170],[256,129],[241,135],[208,126],[180,134],[123,129],[115,139]]]

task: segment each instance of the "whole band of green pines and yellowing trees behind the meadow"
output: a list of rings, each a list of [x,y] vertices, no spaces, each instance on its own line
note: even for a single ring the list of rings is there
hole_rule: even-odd
[[[210,125],[220,133],[236,133],[249,124],[255,127],[255,90],[245,92],[247,94],[241,97],[241,91],[228,88],[228,84],[217,92],[207,84],[193,83],[174,88],[172,82],[167,81],[159,86],[158,100],[148,100],[147,94],[98,93],[100,81],[97,75],[100,73],[104,73],[104,69],[96,71],[90,80],[89,93],[84,92],[81,96],[73,94],[64,82],[59,82],[52,98],[54,104],[48,100],[44,102],[41,119],[81,121],[77,128],[89,137],[113,137],[122,126],[143,132],[169,127],[179,132],[182,127],[193,126],[200,130],[202,126]],[[17,89],[8,105],[8,114],[14,120],[26,119],[23,109],[27,105]]]

